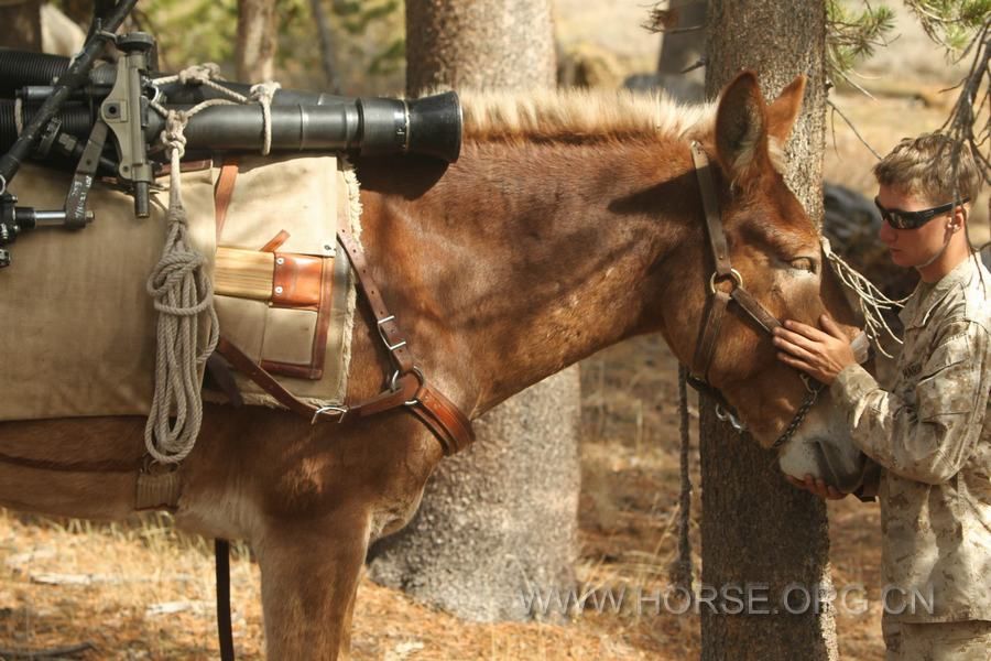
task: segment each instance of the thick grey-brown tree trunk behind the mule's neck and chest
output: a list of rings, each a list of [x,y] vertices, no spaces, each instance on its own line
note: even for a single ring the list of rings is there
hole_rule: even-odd
[[[406,32],[411,96],[554,84],[549,0],[410,0]],[[373,546],[372,578],[465,619],[529,619],[524,589],[574,581],[578,421],[577,367],[483,416],[410,525]]]

